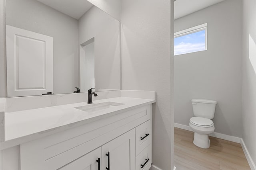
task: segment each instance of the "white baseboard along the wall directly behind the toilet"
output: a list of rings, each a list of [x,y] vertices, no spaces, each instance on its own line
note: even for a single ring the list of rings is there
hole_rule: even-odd
[[[192,131],[190,126],[182,125],[182,124],[179,124],[179,123],[174,123],[174,127],[178,127],[180,129],[185,129],[187,131]],[[214,133],[210,134],[209,136],[216,137],[216,138],[219,138],[219,139],[224,139],[224,140],[227,140],[227,141],[232,141],[232,142],[235,142],[235,143],[241,143],[241,138],[240,137],[234,137],[234,136],[225,135],[225,134],[222,134],[222,133],[214,132]]]

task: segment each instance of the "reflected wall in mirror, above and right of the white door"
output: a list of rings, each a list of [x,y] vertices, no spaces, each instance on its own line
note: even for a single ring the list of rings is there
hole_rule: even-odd
[[[54,94],[78,86],[78,21],[36,0],[6,0],[6,24],[53,37]]]

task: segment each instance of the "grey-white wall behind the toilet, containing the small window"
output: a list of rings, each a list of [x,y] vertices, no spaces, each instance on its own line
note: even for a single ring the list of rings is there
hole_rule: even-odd
[[[189,125],[191,99],[217,100],[215,131],[242,137],[242,1],[226,0],[174,21],[208,26],[208,49],[174,56],[174,122]]]

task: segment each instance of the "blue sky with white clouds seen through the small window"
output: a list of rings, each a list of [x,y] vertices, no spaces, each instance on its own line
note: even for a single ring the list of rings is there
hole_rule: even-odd
[[[174,55],[205,50],[205,30],[174,38]]]

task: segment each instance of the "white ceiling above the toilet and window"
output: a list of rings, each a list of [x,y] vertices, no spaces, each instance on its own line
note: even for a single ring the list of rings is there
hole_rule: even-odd
[[[174,20],[224,0],[176,0],[174,2]]]

